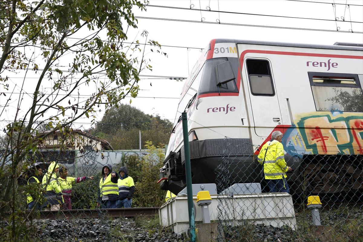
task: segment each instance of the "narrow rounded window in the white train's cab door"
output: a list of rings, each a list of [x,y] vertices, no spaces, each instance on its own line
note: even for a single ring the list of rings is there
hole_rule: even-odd
[[[271,71],[266,60],[246,60],[251,93],[258,96],[273,96]]]

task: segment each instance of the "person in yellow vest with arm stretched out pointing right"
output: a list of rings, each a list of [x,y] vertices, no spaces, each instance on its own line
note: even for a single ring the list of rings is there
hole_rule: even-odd
[[[70,197],[72,196],[72,186],[73,184],[79,183],[81,181],[85,181],[87,179],[94,179],[94,176],[90,177],[70,177],[68,176],[68,168],[61,167],[59,169],[59,174],[61,175],[58,178],[59,185],[62,189],[62,196],[64,200],[64,205],[62,206],[62,209],[72,209],[72,201],[70,200]]]

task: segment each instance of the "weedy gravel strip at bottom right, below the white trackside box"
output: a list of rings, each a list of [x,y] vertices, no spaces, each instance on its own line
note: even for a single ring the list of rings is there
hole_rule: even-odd
[[[359,208],[323,210],[321,226],[312,223],[310,210],[297,216],[295,230],[289,226],[274,228],[243,222],[239,226],[223,226],[226,241],[303,241],[303,242],[355,242],[363,241],[363,212]]]

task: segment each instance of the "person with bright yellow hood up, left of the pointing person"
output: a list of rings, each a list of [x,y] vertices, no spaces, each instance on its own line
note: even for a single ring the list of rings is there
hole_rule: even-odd
[[[43,176],[42,185],[44,186],[44,197],[46,202],[44,210],[60,210],[60,204],[63,204],[62,190],[58,183],[56,173],[59,171],[59,166],[55,161],[52,161],[48,167],[48,172]]]

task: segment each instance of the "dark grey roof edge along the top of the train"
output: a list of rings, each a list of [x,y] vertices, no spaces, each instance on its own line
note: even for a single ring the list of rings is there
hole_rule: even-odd
[[[333,44],[333,45],[313,45],[313,44],[237,40],[237,39],[215,39],[215,41],[216,41],[215,42],[216,44],[217,43],[236,43],[236,44],[253,44],[253,45],[289,46],[289,47],[315,48],[315,49],[363,50],[363,44],[360,44],[360,43],[335,42],[335,44]]]

